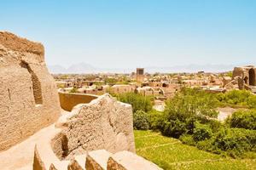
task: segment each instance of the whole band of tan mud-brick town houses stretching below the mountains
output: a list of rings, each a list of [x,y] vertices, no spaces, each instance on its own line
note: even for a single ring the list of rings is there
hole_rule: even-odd
[[[154,96],[155,99],[165,100],[172,98],[183,87],[201,88],[209,93],[224,93],[230,89],[241,89],[237,75],[244,77],[246,85],[249,73],[247,67],[235,68],[232,72],[225,73],[179,73],[157,74],[144,73],[143,68],[137,68],[137,72],[131,74],[98,74],[98,75],[54,75],[58,88],[80,94],[124,94],[137,93],[145,96]],[[254,67],[253,67],[254,68]],[[243,71],[245,69],[245,71]],[[239,70],[240,73],[237,73]],[[251,76],[251,82],[253,83]],[[247,86],[245,86],[247,87]]]

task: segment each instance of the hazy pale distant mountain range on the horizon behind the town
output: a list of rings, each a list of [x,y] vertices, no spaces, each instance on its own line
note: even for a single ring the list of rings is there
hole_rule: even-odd
[[[145,67],[145,72],[154,73],[172,73],[172,72],[223,72],[223,71],[232,71],[235,66],[241,65],[175,65],[168,67],[160,66],[149,66]],[[136,68],[97,68],[93,65],[86,63],[79,63],[71,65],[68,68],[65,68],[61,65],[48,65],[50,73],[131,73],[136,71]]]

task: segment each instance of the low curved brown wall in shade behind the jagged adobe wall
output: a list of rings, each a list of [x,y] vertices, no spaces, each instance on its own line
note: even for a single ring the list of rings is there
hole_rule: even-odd
[[[61,108],[65,111],[72,111],[73,106],[79,104],[88,104],[91,100],[97,99],[97,95],[93,94],[72,94],[58,91]]]

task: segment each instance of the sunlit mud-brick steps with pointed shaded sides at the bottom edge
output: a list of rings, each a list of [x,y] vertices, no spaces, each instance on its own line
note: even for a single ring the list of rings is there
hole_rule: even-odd
[[[115,154],[107,150],[93,150],[72,160],[53,161],[49,168],[35,150],[33,170],[162,170],[160,167],[130,151]]]

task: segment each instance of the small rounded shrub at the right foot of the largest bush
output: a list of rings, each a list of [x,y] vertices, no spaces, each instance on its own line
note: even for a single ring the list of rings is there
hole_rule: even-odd
[[[193,139],[198,142],[205,139],[212,138],[212,128],[207,124],[195,122]]]

